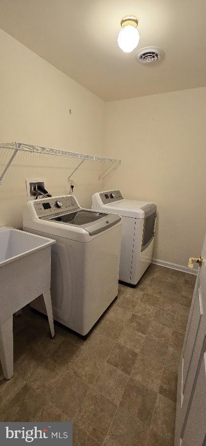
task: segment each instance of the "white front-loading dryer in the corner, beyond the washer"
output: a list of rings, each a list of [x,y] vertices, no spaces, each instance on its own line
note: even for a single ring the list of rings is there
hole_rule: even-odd
[[[122,217],[119,280],[137,285],[152,259],[157,206],[146,201],[126,200],[119,190],[94,193],[92,209],[118,213]]]

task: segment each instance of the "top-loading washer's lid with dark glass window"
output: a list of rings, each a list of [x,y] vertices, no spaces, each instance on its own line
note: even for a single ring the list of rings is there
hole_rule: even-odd
[[[90,211],[81,208],[76,211],[42,217],[41,219],[49,221],[51,224],[57,223],[69,227],[81,228],[86,230],[90,235],[107,231],[107,229],[121,221],[121,217],[118,214],[108,214],[107,212]]]

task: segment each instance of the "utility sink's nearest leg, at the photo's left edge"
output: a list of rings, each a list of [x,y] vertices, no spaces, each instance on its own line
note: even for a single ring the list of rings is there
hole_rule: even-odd
[[[13,374],[13,314],[0,322],[0,362],[3,374],[10,379]]]

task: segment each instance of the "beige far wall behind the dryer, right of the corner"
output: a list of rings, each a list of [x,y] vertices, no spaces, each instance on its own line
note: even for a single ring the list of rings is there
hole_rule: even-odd
[[[122,164],[104,188],[157,203],[156,259],[187,266],[189,256],[201,253],[205,135],[205,87],[107,103],[106,153]]]

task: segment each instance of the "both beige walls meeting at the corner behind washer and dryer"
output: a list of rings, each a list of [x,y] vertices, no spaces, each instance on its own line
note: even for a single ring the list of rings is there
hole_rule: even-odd
[[[105,164],[80,167],[73,175],[80,204],[90,207],[92,193],[104,188],[154,201],[154,258],[186,266],[189,255],[199,256],[206,230],[206,88],[105,104],[1,30],[0,54],[0,140],[121,158],[104,184],[98,174]],[[0,172],[9,154],[1,152]],[[53,195],[66,194],[76,165],[19,153],[0,187],[0,225],[22,226],[26,178],[45,177]]]

